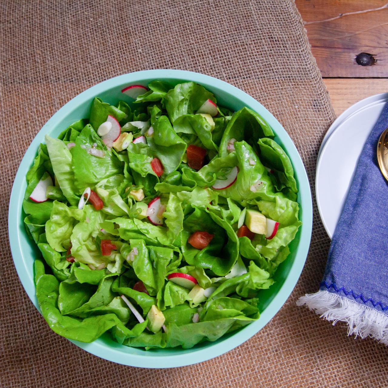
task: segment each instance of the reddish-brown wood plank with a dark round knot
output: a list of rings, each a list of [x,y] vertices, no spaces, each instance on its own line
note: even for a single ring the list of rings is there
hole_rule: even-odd
[[[374,9],[386,3],[386,0],[296,0],[323,77],[388,77],[388,7],[326,21],[339,14]],[[355,57],[361,52],[372,54],[376,63],[358,65]]]

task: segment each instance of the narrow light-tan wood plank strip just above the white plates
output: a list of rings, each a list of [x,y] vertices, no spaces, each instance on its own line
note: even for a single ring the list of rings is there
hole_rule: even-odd
[[[388,79],[324,78],[324,83],[337,116],[359,100],[388,92]]]

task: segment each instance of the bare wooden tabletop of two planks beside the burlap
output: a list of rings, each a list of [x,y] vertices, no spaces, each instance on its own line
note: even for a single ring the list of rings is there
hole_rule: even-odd
[[[387,0],[295,2],[337,115],[365,97],[388,92]],[[370,54],[359,57],[370,65],[357,64],[360,53]]]

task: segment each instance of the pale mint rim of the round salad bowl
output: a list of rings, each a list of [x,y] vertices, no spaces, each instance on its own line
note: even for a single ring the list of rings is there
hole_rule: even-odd
[[[214,357],[218,357],[223,353],[232,350],[258,333],[258,331],[260,331],[260,329],[262,329],[281,309],[293,291],[307,258],[312,232],[312,197],[305,167],[288,133],[284,130],[279,121],[277,121],[276,118],[264,106],[262,106],[262,104],[260,104],[260,102],[255,100],[247,93],[243,92],[241,89],[230,85],[225,81],[219,80],[218,78],[214,78],[205,74],[176,69],[143,70],[122,74],[120,76],[102,81],[97,85],[94,85],[76,95],[76,97],[62,106],[61,109],[54,113],[54,115],[47,121],[47,123],[43,125],[42,129],[36,134],[27,151],[25,152],[12,186],[8,217],[9,241],[12,258],[14,260],[14,265],[16,267],[19,279],[30,300],[33,302],[38,311],[40,310],[35,295],[33,275],[32,277],[30,276],[31,268],[27,267],[27,263],[24,260],[24,255],[28,254],[23,252],[21,244],[21,234],[23,231],[19,227],[22,202],[24,198],[24,187],[26,184],[26,171],[28,171],[33,159],[35,158],[38,145],[42,139],[44,139],[44,135],[46,133],[50,133],[51,130],[55,128],[55,123],[60,121],[62,116],[70,113],[73,109],[78,107],[80,104],[83,104],[90,98],[93,98],[96,95],[103,93],[105,90],[119,86],[123,83],[140,83],[142,79],[151,78],[154,80],[163,80],[167,78],[177,81],[190,80],[199,84],[210,84],[214,88],[219,88],[226,93],[234,95],[234,97],[237,100],[240,100],[242,104],[261,114],[265,121],[267,121],[267,123],[272,127],[275,135],[281,139],[282,144],[291,159],[298,178],[300,203],[302,205],[301,209],[303,210],[301,211],[301,221],[303,222],[303,225],[300,228],[300,241],[296,248],[294,262],[291,265],[284,283],[275,295],[274,299],[270,301],[268,306],[260,315],[260,318],[243,327],[234,333],[230,338],[226,338],[225,340],[218,341],[216,343],[209,342],[209,345],[203,348],[188,349],[189,352],[182,350],[182,352],[179,354],[163,355],[163,357],[156,356],[151,352],[144,352],[144,356],[123,352],[122,345],[117,347],[107,347],[104,343],[99,342],[98,340],[92,343],[83,343],[80,341],[71,340],[71,342],[80,348],[83,348],[87,352],[101,357],[102,359],[116,362],[118,364],[145,368],[168,368],[196,364],[212,359]],[[232,338],[233,340],[231,340]]]

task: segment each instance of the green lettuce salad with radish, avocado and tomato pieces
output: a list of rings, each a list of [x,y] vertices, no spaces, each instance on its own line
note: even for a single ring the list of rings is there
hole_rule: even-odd
[[[201,85],[130,85],[48,135],[26,178],[49,326],[145,349],[214,341],[259,318],[301,223],[294,171],[256,112]]]

